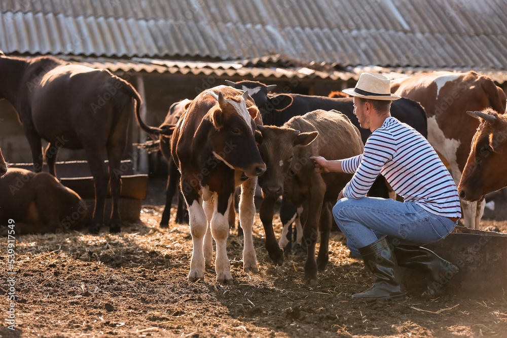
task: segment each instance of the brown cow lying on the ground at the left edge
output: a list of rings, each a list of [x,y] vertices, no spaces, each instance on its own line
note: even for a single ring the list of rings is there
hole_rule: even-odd
[[[47,172],[10,168],[0,189],[0,224],[14,224],[16,235],[79,230],[89,221],[85,201]]]

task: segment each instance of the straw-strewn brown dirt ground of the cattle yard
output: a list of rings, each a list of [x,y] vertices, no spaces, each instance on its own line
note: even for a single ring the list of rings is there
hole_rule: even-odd
[[[187,281],[189,227],[160,229],[164,182],[152,184],[140,220],[117,235],[79,232],[16,237],[15,326],[9,318],[8,244],[0,238],[2,337],[506,337],[507,298],[447,295],[430,301],[358,301],[371,285],[362,263],[349,258],[333,233],[330,262],[317,287],[302,283],[304,256],[274,266],[253,226],[259,273],[238,264],[242,239],[231,233],[234,285]],[[482,228],[507,232],[503,200]],[[503,206],[502,206],[503,204]],[[489,209],[488,209],[489,210]],[[487,213],[488,214],[488,213]],[[493,220],[494,218],[500,218]],[[275,219],[279,236],[279,220]],[[105,229],[103,229],[105,231]],[[487,277],[486,277],[487,278]]]

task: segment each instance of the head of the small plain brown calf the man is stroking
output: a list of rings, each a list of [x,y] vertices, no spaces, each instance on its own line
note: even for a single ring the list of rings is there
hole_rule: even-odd
[[[275,126],[257,126],[262,139],[259,144],[266,172],[260,179],[262,191],[267,195],[282,195],[283,183],[291,174],[301,170],[308,159],[299,156],[298,147],[309,145],[318,132],[305,132]],[[292,173],[294,171],[294,173]]]

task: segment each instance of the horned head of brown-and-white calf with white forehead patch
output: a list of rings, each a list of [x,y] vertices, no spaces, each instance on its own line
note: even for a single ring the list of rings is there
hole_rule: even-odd
[[[248,92],[236,96],[218,93],[218,104],[208,111],[213,129],[208,133],[213,155],[231,169],[243,171],[248,177],[259,176],[266,170],[256,143],[253,119],[259,109]]]

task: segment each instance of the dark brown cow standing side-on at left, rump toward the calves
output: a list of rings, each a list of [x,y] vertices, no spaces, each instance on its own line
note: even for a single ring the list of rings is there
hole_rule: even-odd
[[[17,111],[36,172],[42,170],[44,159],[41,139],[49,142],[45,157],[52,175],[60,148],[84,148],[95,182],[89,231],[97,233],[104,221],[109,181],[113,200],[110,231],[119,232],[120,165],[134,109],[139,118],[141,99],[137,91],[105,69],[47,56],[0,56],[0,98],[11,102]]]

